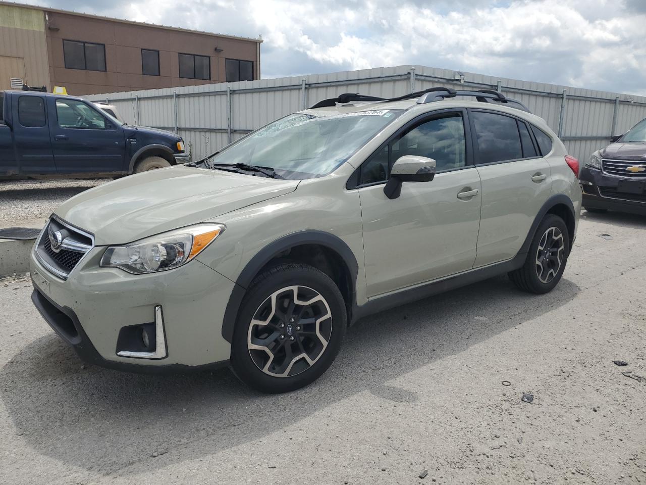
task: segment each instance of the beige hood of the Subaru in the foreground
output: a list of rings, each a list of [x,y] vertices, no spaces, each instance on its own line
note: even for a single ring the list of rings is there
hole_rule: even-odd
[[[55,211],[94,234],[94,242],[125,244],[213,219],[294,191],[298,180],[222,170],[170,167],[120,178],[81,192]]]

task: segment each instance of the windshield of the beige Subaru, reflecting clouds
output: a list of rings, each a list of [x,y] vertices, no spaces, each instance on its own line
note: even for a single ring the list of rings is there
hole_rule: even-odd
[[[210,157],[214,165],[271,167],[280,178],[327,175],[395,120],[401,110],[370,110],[336,116],[290,114]]]

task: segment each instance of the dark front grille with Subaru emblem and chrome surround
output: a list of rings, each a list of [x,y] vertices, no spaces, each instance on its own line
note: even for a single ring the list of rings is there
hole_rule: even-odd
[[[52,217],[37,243],[36,256],[50,272],[66,279],[93,245],[92,235]]]

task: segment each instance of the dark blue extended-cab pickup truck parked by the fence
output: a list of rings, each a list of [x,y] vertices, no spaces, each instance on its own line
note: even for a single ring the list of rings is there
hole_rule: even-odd
[[[189,161],[180,136],[124,124],[81,98],[0,91],[0,179],[113,177]]]

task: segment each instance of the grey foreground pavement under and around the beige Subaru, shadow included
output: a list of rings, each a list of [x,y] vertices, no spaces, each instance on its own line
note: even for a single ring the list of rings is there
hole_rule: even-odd
[[[281,396],[85,365],[10,277],[0,483],[646,484],[646,382],[621,373],[646,376],[645,241],[645,218],[587,214],[550,294],[498,277],[364,319]]]

